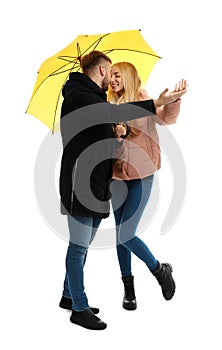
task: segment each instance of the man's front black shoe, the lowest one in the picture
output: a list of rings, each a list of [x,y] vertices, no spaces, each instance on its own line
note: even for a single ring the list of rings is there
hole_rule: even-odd
[[[100,320],[90,308],[83,311],[73,310],[70,321],[84,328],[93,330],[102,330],[107,327],[107,324]]]

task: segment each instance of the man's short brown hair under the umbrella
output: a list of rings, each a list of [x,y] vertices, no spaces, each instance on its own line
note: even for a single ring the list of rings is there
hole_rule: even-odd
[[[112,63],[111,59],[100,51],[91,51],[90,53],[79,58],[80,66],[83,73],[88,73],[93,70],[96,66],[102,64],[104,60]]]

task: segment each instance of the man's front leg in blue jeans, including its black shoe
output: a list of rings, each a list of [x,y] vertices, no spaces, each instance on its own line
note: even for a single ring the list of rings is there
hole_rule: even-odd
[[[88,247],[101,220],[68,216],[70,241],[66,255],[67,290],[72,300],[70,321],[87,329],[102,330],[107,327],[89,308],[84,291],[84,264]],[[94,225],[97,225],[94,227]]]

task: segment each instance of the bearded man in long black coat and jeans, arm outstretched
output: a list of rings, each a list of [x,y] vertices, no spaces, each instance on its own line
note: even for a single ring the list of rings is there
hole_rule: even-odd
[[[117,141],[113,123],[155,114],[156,107],[171,103],[185,91],[164,90],[155,101],[111,105],[106,90],[111,60],[99,51],[80,59],[83,73],[71,73],[63,88],[60,172],[62,213],[68,215],[70,242],[60,307],[72,310],[70,321],[88,329],[105,329],[106,323],[90,308],[84,291],[83,268],[88,247],[99,224],[109,215],[109,185]]]

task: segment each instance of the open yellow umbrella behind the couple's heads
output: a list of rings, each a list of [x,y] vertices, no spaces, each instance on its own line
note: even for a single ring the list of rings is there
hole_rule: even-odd
[[[93,50],[108,55],[112,63],[127,61],[134,64],[143,86],[160,58],[146,43],[140,30],[79,35],[70,45],[42,63],[26,112],[41,120],[52,131],[57,130],[63,85],[71,72],[80,71],[78,57]]]

